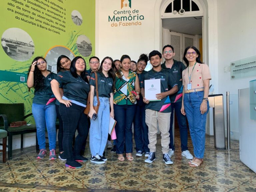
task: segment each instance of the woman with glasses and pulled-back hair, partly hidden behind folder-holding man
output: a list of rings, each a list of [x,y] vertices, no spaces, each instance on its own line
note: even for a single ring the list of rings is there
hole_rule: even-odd
[[[148,56],[146,54],[141,54],[137,62],[137,71],[140,87],[142,87],[142,81],[147,73],[145,68],[148,63]],[[148,126],[146,124],[146,112],[145,103],[143,102],[143,97],[140,94],[140,98],[137,100],[136,112],[133,120],[134,126],[134,140],[136,145],[136,156],[141,157],[145,153],[145,157],[149,156],[149,140],[148,140]]]

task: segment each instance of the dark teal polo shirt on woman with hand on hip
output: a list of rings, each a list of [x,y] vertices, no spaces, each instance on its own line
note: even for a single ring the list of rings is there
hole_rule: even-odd
[[[64,71],[59,72],[55,79],[63,87],[65,97],[87,105],[90,85],[85,82],[80,76],[75,78],[72,76],[70,71]]]

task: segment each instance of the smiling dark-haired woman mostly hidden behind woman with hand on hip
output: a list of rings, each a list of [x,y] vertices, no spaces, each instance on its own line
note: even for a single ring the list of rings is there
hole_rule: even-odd
[[[69,71],[70,69],[71,60],[66,55],[61,55],[57,59],[57,73]],[[57,74],[58,75],[58,74]],[[61,96],[63,96],[63,87],[60,87]],[[58,131],[58,142],[59,142],[59,159],[62,161],[66,160],[64,149],[63,149],[63,122],[59,113],[59,106],[60,102],[56,100],[55,107],[56,107],[56,114],[59,119],[59,131]]]

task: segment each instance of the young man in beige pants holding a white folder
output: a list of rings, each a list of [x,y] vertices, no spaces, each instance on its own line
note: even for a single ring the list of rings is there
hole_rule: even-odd
[[[150,52],[149,61],[153,68],[145,74],[141,89],[143,102],[146,103],[146,124],[148,126],[148,147],[150,150],[149,157],[145,160],[145,162],[152,163],[156,159],[155,152],[158,122],[159,130],[161,132],[163,161],[165,162],[165,164],[173,164],[172,160],[168,155],[170,143],[169,128],[171,116],[171,102],[169,95],[176,93],[178,91],[178,86],[172,74],[168,73],[165,69],[162,69],[162,54],[159,51],[154,50]],[[148,83],[146,82],[145,86],[146,80],[154,79],[156,81],[151,81],[151,84],[149,86]],[[157,84],[157,79],[160,79],[160,85]],[[156,83],[154,84],[154,82]],[[153,92],[155,88],[158,89],[159,87],[160,90],[159,93],[155,95],[155,99],[151,99],[151,101],[148,100],[147,96],[152,98],[150,92]]]

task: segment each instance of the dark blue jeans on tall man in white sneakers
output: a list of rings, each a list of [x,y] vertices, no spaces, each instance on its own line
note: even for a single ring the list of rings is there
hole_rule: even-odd
[[[175,151],[174,142],[173,142],[173,133],[172,133],[172,125],[173,125],[173,111],[175,109],[175,113],[178,119],[179,129],[180,129],[180,141],[181,141],[181,151],[188,150],[188,128],[187,128],[187,118],[185,115],[182,115],[181,109],[182,102],[176,102],[171,104],[171,121],[170,121],[170,144],[169,148]]]

